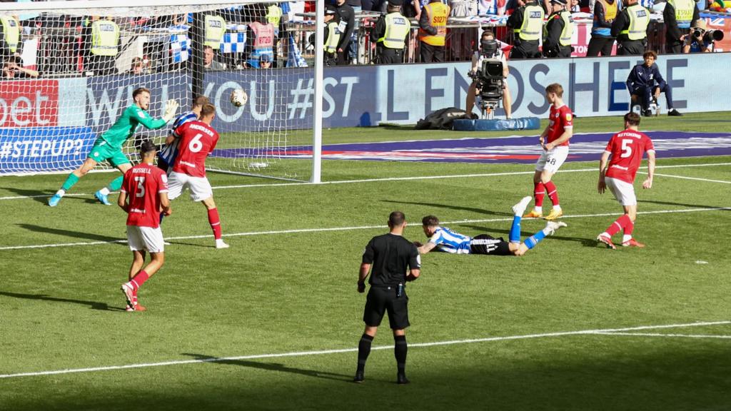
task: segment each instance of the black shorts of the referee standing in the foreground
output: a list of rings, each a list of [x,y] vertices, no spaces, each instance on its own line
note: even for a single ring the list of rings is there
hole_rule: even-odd
[[[403,330],[408,327],[409,297],[406,291],[404,295],[397,297],[396,287],[371,287],[366,297],[363,323],[369,327],[378,327],[385,312],[388,312],[388,323],[392,330]]]

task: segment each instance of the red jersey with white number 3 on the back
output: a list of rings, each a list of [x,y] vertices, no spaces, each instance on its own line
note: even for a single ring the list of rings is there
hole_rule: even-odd
[[[160,226],[160,195],[167,192],[167,175],[158,167],[141,162],[124,173],[121,192],[127,193],[127,225]]]

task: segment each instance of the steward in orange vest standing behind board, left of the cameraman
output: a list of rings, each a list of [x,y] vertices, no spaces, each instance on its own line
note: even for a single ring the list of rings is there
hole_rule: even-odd
[[[442,0],[430,0],[419,17],[419,54],[424,63],[444,61],[444,40],[447,37],[447,18],[450,7]]]

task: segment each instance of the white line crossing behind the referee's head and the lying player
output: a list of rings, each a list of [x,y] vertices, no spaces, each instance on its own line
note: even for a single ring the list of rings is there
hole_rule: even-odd
[[[656,210],[656,211],[638,211],[637,214],[673,214],[673,213],[694,213],[702,211],[719,211],[719,210],[731,210],[731,207],[713,207],[713,208],[685,208],[681,210]],[[577,219],[585,217],[605,217],[605,216],[617,216],[619,213],[601,213],[601,214],[575,214],[572,216],[562,216],[562,219]],[[531,220],[531,219],[526,219]],[[452,224],[466,224],[476,222],[508,222],[512,221],[512,217],[500,218],[500,219],[464,219],[442,222],[442,225]],[[272,230],[272,231],[251,231],[246,233],[227,233],[224,237],[244,237],[249,235],[274,235],[274,234],[294,234],[294,233],[326,233],[328,231],[351,231],[351,230],[375,230],[376,228],[385,228],[385,225],[363,225],[355,227],[326,227],[326,228],[295,228],[291,230]],[[202,234],[202,235],[182,235],[179,237],[165,237],[166,241],[171,240],[192,240],[197,238],[211,238],[213,234]],[[50,247],[65,247],[65,246],[98,246],[102,244],[120,244],[126,243],[124,239],[112,240],[112,241],[89,241],[80,243],[58,243],[58,244],[36,244],[32,246],[3,246],[0,247],[0,251],[13,250],[13,249],[44,249]]]

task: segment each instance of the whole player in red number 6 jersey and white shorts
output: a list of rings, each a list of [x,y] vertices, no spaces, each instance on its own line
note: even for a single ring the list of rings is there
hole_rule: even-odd
[[[213,202],[213,189],[205,177],[205,158],[219,141],[219,133],[211,127],[215,116],[216,107],[205,104],[200,110],[199,120],[189,121],[175,129],[175,134],[181,137],[178,157],[170,173],[170,200],[175,200],[183,189],[189,188],[192,200],[202,202],[208,210],[208,223],[216,238],[216,248],[227,249],[228,244],[221,238],[221,219]]]

